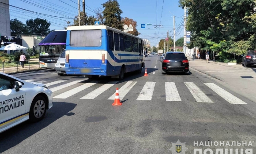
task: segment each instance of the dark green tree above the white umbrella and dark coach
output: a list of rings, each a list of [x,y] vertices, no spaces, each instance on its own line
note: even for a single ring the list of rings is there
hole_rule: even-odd
[[[36,18],[34,20],[33,19],[26,20],[28,33],[31,33],[31,34],[40,35],[42,33],[42,34],[48,35],[48,33],[51,32],[49,29],[50,25],[51,23],[47,22],[46,19]]]

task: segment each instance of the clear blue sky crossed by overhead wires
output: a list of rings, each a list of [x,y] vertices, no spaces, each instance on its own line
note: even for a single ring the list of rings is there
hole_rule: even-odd
[[[108,0],[85,0],[87,15],[95,16],[94,9],[102,7],[101,4]],[[140,38],[150,40],[151,46],[156,46],[160,39],[169,36],[173,38],[173,16],[175,16],[175,40],[183,37],[184,10],[178,7],[179,0],[117,0],[123,11],[121,17],[132,18],[137,22],[137,30]],[[31,4],[33,3],[33,4]],[[66,21],[78,15],[78,0],[9,0],[10,19],[17,18],[26,23],[27,19],[43,18],[51,22],[51,30],[64,29]],[[82,0],[80,10],[83,11]],[[17,7],[34,11],[29,12]],[[52,15],[52,16],[45,16]],[[56,17],[53,17],[56,16]],[[58,18],[62,17],[62,18]],[[151,23],[151,26],[147,26]],[[146,24],[145,29],[141,24]],[[162,25],[154,26],[154,25]],[[154,28],[156,27],[156,28]],[[160,27],[160,28],[159,28]]]

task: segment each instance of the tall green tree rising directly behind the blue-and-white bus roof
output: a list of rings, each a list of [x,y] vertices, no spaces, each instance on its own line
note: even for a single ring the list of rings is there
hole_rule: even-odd
[[[123,29],[121,22],[121,14],[123,11],[120,9],[117,0],[109,0],[102,4],[104,10],[102,11],[105,18],[105,25],[115,29]]]

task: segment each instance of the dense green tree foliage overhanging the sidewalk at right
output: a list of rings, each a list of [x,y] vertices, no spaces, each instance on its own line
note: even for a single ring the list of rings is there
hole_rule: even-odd
[[[190,7],[189,48],[237,55],[255,49],[256,0],[180,0],[179,4]]]

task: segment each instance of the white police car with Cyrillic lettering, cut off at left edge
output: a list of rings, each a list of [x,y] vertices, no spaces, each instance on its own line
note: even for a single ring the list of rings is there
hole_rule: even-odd
[[[0,132],[26,120],[40,121],[52,106],[53,92],[45,84],[0,73]]]

